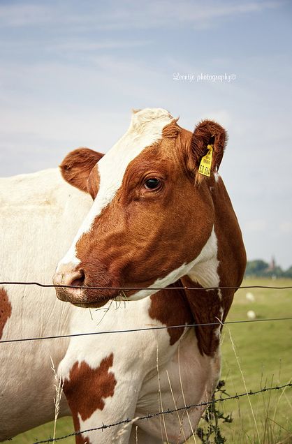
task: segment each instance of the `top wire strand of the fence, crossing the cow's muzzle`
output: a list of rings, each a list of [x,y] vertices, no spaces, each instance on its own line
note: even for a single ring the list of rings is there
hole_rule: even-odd
[[[267,288],[270,290],[291,290],[292,286],[214,286],[214,287],[95,287],[95,286],[67,286],[64,284],[41,283],[37,281],[2,281],[0,286],[38,286],[43,288],[83,288],[85,290],[240,290],[247,288]]]

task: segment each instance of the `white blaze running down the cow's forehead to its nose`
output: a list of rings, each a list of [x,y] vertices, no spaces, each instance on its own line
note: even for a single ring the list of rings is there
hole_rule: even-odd
[[[96,216],[101,214],[103,208],[110,204],[115,194],[122,186],[122,180],[127,166],[146,147],[149,147],[162,138],[164,126],[170,124],[173,117],[162,108],[145,108],[135,112],[131,119],[128,131],[118,142],[98,161],[99,190],[92,208],[85,221],[80,226],[73,240],[71,248],[57,266],[71,263],[78,265],[80,260],[76,257],[75,246],[78,239],[89,232]]]

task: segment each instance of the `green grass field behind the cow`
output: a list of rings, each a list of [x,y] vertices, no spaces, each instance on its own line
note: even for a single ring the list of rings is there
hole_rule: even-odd
[[[291,286],[292,280],[246,280],[242,285]],[[246,298],[253,293],[254,302]],[[247,319],[253,310],[257,319],[292,316],[292,290],[239,290],[227,320]],[[232,339],[232,341],[231,341]],[[232,343],[233,342],[233,343]],[[239,358],[235,357],[235,351]],[[259,390],[285,384],[292,379],[292,320],[260,323],[231,324],[224,327],[222,337],[222,373],[226,392],[233,395],[247,390]],[[251,406],[249,404],[249,399]],[[220,425],[226,443],[291,444],[292,443],[292,389],[265,392],[250,398],[226,401],[221,410],[232,413],[233,422]],[[205,422],[202,422],[205,427]],[[14,444],[34,443],[52,436],[53,424],[45,424],[13,438]],[[73,431],[71,419],[57,421],[56,436]],[[75,443],[74,438],[62,441]],[[212,443],[214,441],[210,441]],[[194,443],[194,438],[188,444]],[[196,438],[196,443],[200,440]]]

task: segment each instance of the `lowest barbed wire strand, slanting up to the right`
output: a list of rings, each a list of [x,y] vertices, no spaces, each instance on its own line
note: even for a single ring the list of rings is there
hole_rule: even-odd
[[[244,393],[240,393],[240,394],[235,394],[233,396],[230,397],[225,397],[225,398],[219,398],[219,399],[212,399],[212,401],[205,401],[205,402],[201,402],[200,404],[189,404],[189,405],[185,405],[184,407],[179,407],[179,408],[168,408],[167,410],[163,410],[161,412],[156,412],[156,413],[151,413],[149,415],[145,415],[145,416],[140,416],[137,418],[132,418],[131,420],[129,418],[127,418],[126,420],[122,420],[122,421],[117,421],[114,422],[112,424],[103,424],[99,427],[93,427],[92,429],[86,429],[86,430],[79,430],[79,431],[74,431],[71,434],[68,435],[64,435],[64,436],[59,436],[57,438],[48,438],[44,441],[36,441],[34,444],[45,444],[45,443],[53,443],[55,441],[61,441],[62,439],[65,438],[70,438],[71,436],[79,436],[81,434],[87,434],[91,431],[96,431],[96,430],[104,430],[104,429],[109,429],[110,427],[116,427],[118,425],[122,425],[122,424],[129,424],[130,422],[137,422],[137,421],[142,421],[142,420],[149,420],[152,417],[156,417],[159,415],[168,415],[168,414],[172,414],[175,412],[179,412],[181,410],[189,410],[190,408],[196,408],[196,407],[206,407],[206,406],[210,406],[212,404],[216,404],[217,402],[224,402],[224,401],[230,401],[231,399],[240,399],[242,397],[246,397],[246,396],[251,396],[254,394],[259,394],[262,392],[271,392],[272,390],[282,390],[286,387],[292,387],[292,383],[287,383],[287,384],[283,384],[283,385],[275,385],[274,387],[263,387],[263,389],[261,390],[256,390],[256,391],[252,391],[250,390],[249,392],[244,392]]]

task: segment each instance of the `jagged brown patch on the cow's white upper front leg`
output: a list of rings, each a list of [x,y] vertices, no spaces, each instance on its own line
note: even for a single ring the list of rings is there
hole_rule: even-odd
[[[75,362],[69,379],[64,380],[64,393],[73,414],[75,427],[78,413],[82,421],[87,420],[96,410],[103,410],[105,398],[115,393],[117,380],[114,373],[109,371],[113,363],[113,354],[105,357],[96,369],[87,362]],[[79,422],[79,421],[78,421]]]

